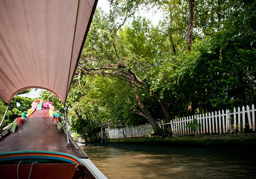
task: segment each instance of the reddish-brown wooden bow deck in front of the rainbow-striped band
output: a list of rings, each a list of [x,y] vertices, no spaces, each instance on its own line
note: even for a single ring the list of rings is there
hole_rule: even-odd
[[[67,146],[67,138],[53,125],[49,110],[35,110],[16,131],[0,141],[0,153],[22,150],[45,150],[77,156],[73,147]],[[79,157],[79,156],[78,156]]]

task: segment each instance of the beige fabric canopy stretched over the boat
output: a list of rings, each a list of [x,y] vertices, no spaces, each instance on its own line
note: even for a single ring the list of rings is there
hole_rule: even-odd
[[[97,0],[0,0],[0,97],[68,95]]]

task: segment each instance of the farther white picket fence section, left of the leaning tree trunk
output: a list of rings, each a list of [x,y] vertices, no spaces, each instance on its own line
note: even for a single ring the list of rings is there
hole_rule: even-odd
[[[161,126],[160,122],[158,125]],[[119,129],[107,129],[106,135],[108,138],[124,138],[124,137],[149,137],[153,133],[153,127],[150,124],[138,126],[128,126]]]

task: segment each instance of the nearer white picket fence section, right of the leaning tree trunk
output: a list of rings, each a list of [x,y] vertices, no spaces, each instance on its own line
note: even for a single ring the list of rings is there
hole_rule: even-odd
[[[174,119],[170,123],[162,124],[171,125],[171,130],[174,135],[184,136],[191,135],[191,129],[186,125],[197,119],[197,123],[201,126],[197,129],[197,134],[230,134],[232,132],[245,132],[248,128],[255,132],[255,108],[252,104],[249,106],[234,108],[233,112],[230,110],[222,110],[212,113],[204,113],[203,115],[194,115],[185,118]]]

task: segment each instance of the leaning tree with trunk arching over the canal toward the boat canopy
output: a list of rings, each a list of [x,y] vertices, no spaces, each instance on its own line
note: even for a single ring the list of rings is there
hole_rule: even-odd
[[[135,38],[138,39],[136,42],[137,44],[121,44],[124,41],[122,39],[127,39],[127,36],[118,36],[118,33],[112,33],[112,29],[110,28],[113,24],[110,23],[109,26],[107,26],[106,21],[104,23],[100,23],[102,20],[99,20],[100,18],[106,18],[106,16],[97,16],[95,15],[95,25],[94,21],[92,24],[91,32],[88,35],[88,39],[97,39],[95,41],[88,41],[85,45],[85,50],[82,54],[82,59],[79,63],[79,68],[77,70],[76,75],[83,76],[83,75],[104,75],[104,76],[110,76],[112,78],[118,78],[122,79],[122,81],[127,82],[132,89],[134,89],[135,92],[135,99],[137,101],[137,107],[139,110],[132,109],[132,112],[137,113],[140,116],[143,116],[146,118],[150,124],[152,124],[156,134],[161,134],[162,130],[159,128],[159,125],[156,124],[155,118],[152,116],[152,114],[147,110],[147,107],[144,106],[143,101],[141,101],[140,93],[141,91],[144,91],[143,94],[146,92],[147,95],[150,95],[150,88],[149,85],[140,79],[138,75],[142,76],[142,78],[145,78],[145,71],[147,68],[152,69],[150,66],[151,64],[154,65],[152,58],[155,57],[155,54],[157,53],[157,49],[155,48],[155,45],[150,42],[149,44],[145,45],[144,43],[149,42],[144,35],[150,34],[147,33],[147,30],[149,30],[148,26],[149,23],[146,21],[143,21],[143,32],[140,33],[138,31],[142,30],[141,26],[137,26],[134,22],[134,31],[131,29],[127,29],[128,33],[132,34],[134,33]],[[111,20],[109,21],[111,22]],[[97,26],[96,26],[97,24]],[[97,28],[95,30],[94,28]],[[100,29],[99,29],[100,28]],[[102,28],[102,29],[101,29]],[[106,32],[106,29],[111,29]],[[129,31],[131,30],[131,31]],[[119,30],[121,33],[125,31]],[[97,32],[104,32],[103,34],[98,34]],[[137,33],[138,32],[138,33]],[[126,33],[126,32],[125,32]],[[91,37],[92,35],[92,37]],[[102,40],[100,41],[101,38]],[[144,39],[141,41],[141,39]],[[112,43],[111,43],[112,42]],[[130,43],[130,41],[127,41]],[[125,42],[126,43],[126,42]],[[158,42],[159,43],[159,42]],[[110,46],[112,44],[112,46]],[[135,45],[135,46],[134,46]],[[98,47],[108,47],[107,53],[103,52],[100,54],[95,53],[99,48]],[[130,49],[129,47],[133,47]],[[154,49],[155,48],[155,49]],[[154,53],[155,52],[155,53]],[[149,58],[149,56],[152,54],[152,57]],[[138,60],[141,58],[141,60]],[[148,60],[147,60],[148,59]],[[143,62],[143,60],[149,61],[150,64],[146,64]],[[90,65],[91,64],[91,65]],[[145,65],[142,68],[140,68],[141,65]],[[153,95],[157,97],[157,95]]]

